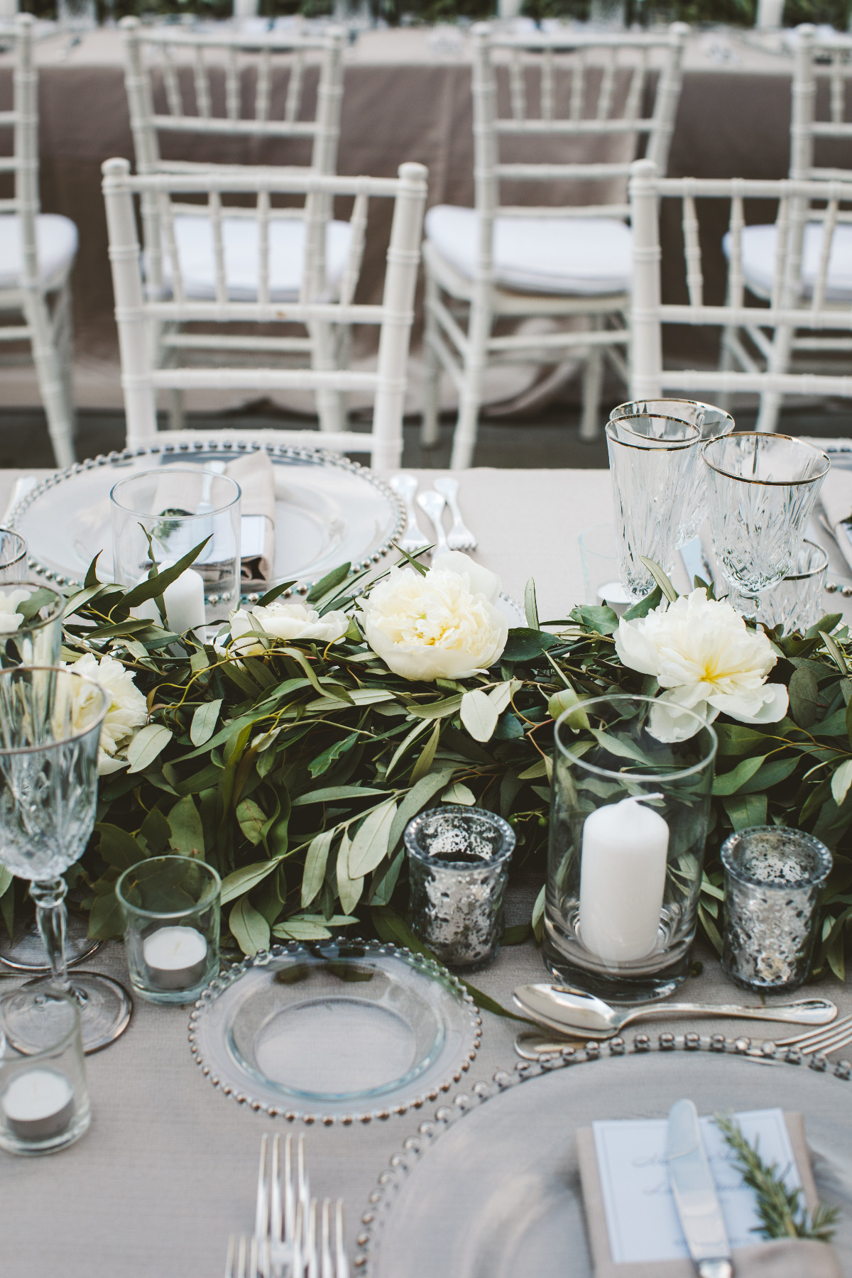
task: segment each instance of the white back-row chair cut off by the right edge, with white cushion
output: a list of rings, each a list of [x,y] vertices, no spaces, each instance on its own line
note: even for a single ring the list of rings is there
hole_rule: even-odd
[[[826,65],[825,65],[826,64]],[[826,72],[826,75],[819,74]],[[828,119],[818,119],[818,86],[828,88]],[[848,169],[832,169],[815,164],[819,139],[852,141],[852,121],[847,119],[846,91],[852,82],[852,36],[835,33],[830,41],[819,40],[816,28],[803,24],[796,29],[792,109],[789,124],[789,176],[805,181],[849,181]],[[818,204],[825,197],[818,197]],[[806,210],[795,220],[796,234],[788,244],[791,279],[800,279],[803,296],[811,296],[819,272],[823,249],[821,219]],[[777,233],[773,225],[752,225],[742,230],[742,271],[746,288],[755,298],[766,300],[775,273]],[[791,299],[792,300],[792,299]],[[825,303],[843,308],[852,302],[852,212],[838,210],[825,285]],[[772,340],[760,326],[729,328],[722,341],[722,368],[747,369],[765,367],[780,374],[788,372],[797,353],[807,363],[820,354],[834,357],[852,353],[852,337],[834,323],[828,331],[796,332],[786,326],[774,330]],[[756,429],[774,431],[783,401],[779,390],[760,396]]]

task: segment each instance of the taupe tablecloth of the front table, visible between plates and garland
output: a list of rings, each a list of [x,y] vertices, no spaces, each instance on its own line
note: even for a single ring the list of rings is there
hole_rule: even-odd
[[[428,484],[437,473],[420,472],[418,478]],[[17,474],[0,472],[0,511]],[[522,598],[526,579],[534,576],[542,619],[566,616],[582,590],[577,534],[611,514],[608,472],[469,470],[461,477],[460,500],[479,537],[475,557],[499,573],[503,588],[516,598]],[[521,875],[508,902],[510,924],[529,919],[539,882],[540,874]],[[710,951],[699,951],[696,957],[704,970],[686,983],[685,998],[752,1001],[723,978]],[[102,947],[89,966],[126,979],[118,943]],[[543,979],[540,953],[533,943],[505,947],[489,967],[471,978],[503,1006],[511,1003],[519,984]],[[9,984],[11,979],[1,982],[0,989]],[[835,999],[842,1013],[852,1012],[852,993],[837,980],[825,980],[818,989]],[[512,1048],[516,1022],[488,1012],[483,1021],[480,1052],[456,1091],[491,1079],[498,1067],[512,1070],[517,1061]],[[3,1272],[10,1278],[24,1273],[218,1278],[224,1273],[229,1233],[253,1226],[261,1134],[287,1127],[215,1090],[193,1063],[186,1026],[188,1008],[138,1001],[126,1034],[87,1061],[93,1122],[83,1140],[50,1158],[0,1153]],[[653,1024],[637,1030],[646,1028],[655,1033]],[[676,1033],[749,1031],[746,1022],[734,1028],[726,1021],[697,1020],[667,1021],[660,1028]],[[773,1026],[754,1029],[763,1036]],[[632,1030],[626,1036],[631,1042]],[[852,1056],[852,1048],[839,1056]],[[769,1104],[772,1077],[768,1068]],[[736,1103],[736,1095],[731,1100]],[[379,1172],[437,1104],[356,1128],[299,1125],[307,1131],[313,1191],[346,1200],[350,1246]],[[571,1141],[570,1113],[563,1118],[566,1141]]]

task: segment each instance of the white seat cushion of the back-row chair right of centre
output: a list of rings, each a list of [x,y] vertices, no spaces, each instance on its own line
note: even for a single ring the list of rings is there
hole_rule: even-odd
[[[460,275],[473,279],[479,249],[474,208],[436,204],[425,235]],[[494,277],[521,293],[628,293],[630,227],[614,217],[496,217]]]

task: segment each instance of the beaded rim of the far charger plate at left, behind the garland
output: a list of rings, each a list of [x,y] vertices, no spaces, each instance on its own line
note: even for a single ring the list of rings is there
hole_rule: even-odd
[[[377,488],[384,497],[391,507],[391,511],[396,515],[393,529],[376,550],[370,551],[367,558],[359,560],[351,565],[350,576],[378,564],[393,548],[392,542],[397,541],[405,532],[406,515],[402,501],[384,479],[377,475],[376,472],[370,470],[368,466],[363,466],[359,461],[351,461],[349,458],[337,452],[328,452],[324,449],[309,449],[295,443],[275,443],[270,440],[241,440],[238,436],[232,438],[212,440],[201,432],[198,440],[180,440],[175,443],[170,443],[167,440],[164,440],[162,443],[147,443],[139,445],[139,447],[135,449],[100,452],[96,458],[88,458],[86,461],[75,461],[74,465],[47,475],[38,484],[36,484],[34,488],[31,488],[29,492],[24,493],[20,501],[15,502],[9,511],[6,527],[13,529],[17,528],[17,521],[20,516],[38,497],[43,497],[43,495],[50,492],[51,488],[55,488],[57,484],[64,483],[77,474],[82,474],[87,470],[96,470],[100,466],[114,466],[120,461],[132,461],[134,458],[146,456],[193,456],[201,452],[236,455],[261,451],[268,452],[270,456],[293,458],[296,461],[308,461],[321,466],[336,466],[337,469],[347,470],[350,474],[355,474],[367,483],[373,484],[373,487]],[[43,578],[46,581],[51,581],[61,588],[82,589],[82,583],[75,578],[66,576],[63,573],[56,571],[56,569],[51,569],[47,564],[42,564],[34,555],[29,555],[28,564],[32,571],[36,573],[37,576]],[[282,598],[291,598],[294,594],[307,594],[316,580],[318,580],[318,578],[305,578],[304,581],[299,581],[295,587],[293,587],[293,589],[285,590]],[[273,584],[275,583],[270,583],[270,588]],[[253,592],[250,594],[244,594],[241,599],[245,603],[257,603],[259,597],[261,596],[258,593]]]

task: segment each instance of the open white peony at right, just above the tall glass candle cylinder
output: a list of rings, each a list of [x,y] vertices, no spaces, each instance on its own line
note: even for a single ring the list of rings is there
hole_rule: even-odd
[[[777,723],[787,713],[787,689],[766,682],[777,659],[769,639],[750,630],[729,603],[708,599],[704,588],[646,617],[622,617],[616,652],[625,666],[653,675],[666,689],[653,727],[662,741],[694,734],[694,721],[678,709],[695,711],[708,723],[720,713],[741,723]]]

